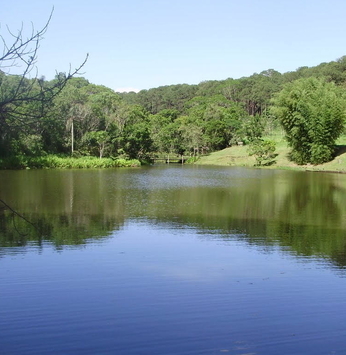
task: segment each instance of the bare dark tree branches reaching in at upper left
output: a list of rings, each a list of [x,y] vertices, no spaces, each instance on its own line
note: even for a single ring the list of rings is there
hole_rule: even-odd
[[[54,8],[45,25],[35,31],[32,25],[28,37],[24,36],[24,26],[17,33],[13,33],[8,27],[7,32],[12,42],[0,35],[3,50],[0,56],[0,133],[9,125],[18,127],[25,122],[42,118],[50,108],[50,104],[55,96],[65,87],[66,83],[80,71],[88,60],[86,55],[82,64],[68,73],[57,74],[52,82],[45,82],[43,78],[38,78],[38,71],[35,66],[38,50],[43,35],[46,33],[52,19]],[[10,74],[10,68],[23,67],[20,75]],[[28,75],[36,68],[33,78]],[[6,70],[8,71],[6,73]],[[10,81],[10,83],[8,83]],[[34,105],[33,110],[25,110],[25,106]]]

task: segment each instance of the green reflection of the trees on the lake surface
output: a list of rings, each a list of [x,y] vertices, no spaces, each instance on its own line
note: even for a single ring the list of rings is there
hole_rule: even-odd
[[[81,245],[136,219],[346,266],[344,175],[187,166],[5,171],[0,196],[40,231],[1,210],[2,247]]]

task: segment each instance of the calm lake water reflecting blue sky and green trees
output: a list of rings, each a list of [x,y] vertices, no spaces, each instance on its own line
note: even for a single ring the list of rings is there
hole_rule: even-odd
[[[2,171],[0,354],[346,354],[346,175]],[[2,206],[1,206],[2,207]]]

